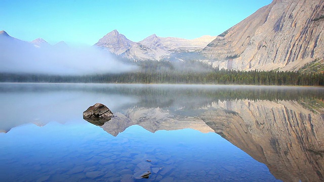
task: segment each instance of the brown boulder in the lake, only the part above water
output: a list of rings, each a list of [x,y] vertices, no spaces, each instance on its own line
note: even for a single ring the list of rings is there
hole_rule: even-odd
[[[96,103],[83,112],[83,117],[90,119],[110,119],[113,117],[113,113],[105,105]]]

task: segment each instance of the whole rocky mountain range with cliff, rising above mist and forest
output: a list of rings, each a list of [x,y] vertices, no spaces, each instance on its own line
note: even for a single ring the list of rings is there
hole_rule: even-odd
[[[296,71],[313,63],[312,69],[324,72],[323,30],[324,1],[274,0],[218,36],[188,40],[153,34],[134,42],[113,30],[94,47],[131,60],[199,60],[219,68],[266,71]],[[2,50],[18,44],[19,49],[51,47],[42,38],[26,42],[0,31]]]

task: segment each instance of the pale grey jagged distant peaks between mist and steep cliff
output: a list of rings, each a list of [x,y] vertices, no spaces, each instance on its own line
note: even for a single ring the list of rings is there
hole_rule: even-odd
[[[139,42],[133,42],[117,30],[113,30],[102,37],[95,46],[133,60],[160,60],[170,59],[178,53],[199,52],[215,38],[216,36],[205,35],[187,40],[175,37],[159,37],[153,34]]]

